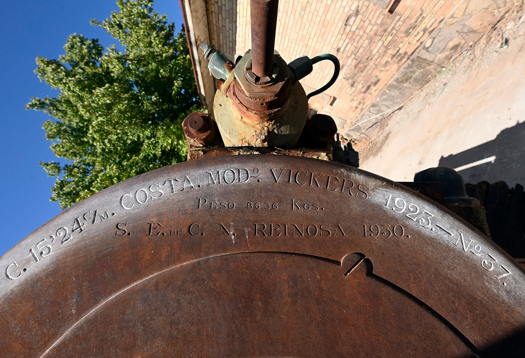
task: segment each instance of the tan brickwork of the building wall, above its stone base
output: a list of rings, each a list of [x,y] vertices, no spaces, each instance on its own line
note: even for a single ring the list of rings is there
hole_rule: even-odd
[[[212,43],[232,59],[244,55],[250,48],[249,0],[204,1]],[[446,26],[444,19],[462,7],[463,12],[468,12],[469,6],[476,7],[470,3],[489,7],[487,1],[491,6],[496,4],[491,0],[401,0],[391,14],[388,9],[393,2],[386,0],[281,0],[275,47],[287,62],[301,55],[314,57],[323,53],[339,58],[341,73],[337,82],[311,98],[309,104],[332,115],[341,133],[351,133],[349,129],[380,94],[385,94],[386,86],[402,73],[416,50],[428,43],[438,26]],[[439,69],[432,67],[431,62],[424,67],[437,73]],[[332,71],[330,62],[320,62],[301,83],[307,92],[317,89],[328,82]],[[426,75],[419,76],[421,83],[427,80]],[[414,78],[409,81],[414,83]]]

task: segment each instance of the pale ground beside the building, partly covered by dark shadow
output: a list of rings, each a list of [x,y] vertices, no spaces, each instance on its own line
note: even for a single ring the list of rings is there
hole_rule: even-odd
[[[395,112],[358,148],[361,169],[411,181],[445,165],[459,167],[465,182],[524,184],[525,24],[518,29],[508,48],[496,52],[492,42],[485,56],[478,48]]]

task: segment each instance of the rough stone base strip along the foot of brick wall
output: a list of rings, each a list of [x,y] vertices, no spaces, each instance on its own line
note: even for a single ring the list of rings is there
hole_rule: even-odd
[[[345,138],[366,139],[364,132],[375,121],[390,113],[390,109],[400,106],[437,73],[448,67],[455,56],[468,49],[495,24],[509,7],[503,1],[470,0],[459,3],[454,12],[432,31],[428,39],[410,56],[406,64],[384,89],[377,94],[355,122],[338,123]],[[392,57],[398,56],[394,52]],[[385,113],[386,112],[386,113]],[[383,114],[382,114],[383,113]],[[377,116],[377,117],[376,117]]]

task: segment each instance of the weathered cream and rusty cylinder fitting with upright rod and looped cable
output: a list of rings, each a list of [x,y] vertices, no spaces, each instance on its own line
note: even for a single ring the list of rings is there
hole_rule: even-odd
[[[214,118],[227,148],[297,148],[308,118],[308,98],[333,84],[339,60],[333,55],[302,56],[287,64],[275,50],[278,0],[251,0],[250,6],[252,48],[235,65],[214,45],[201,44],[217,79]],[[334,76],[307,96],[299,80],[325,59],[334,63]]]

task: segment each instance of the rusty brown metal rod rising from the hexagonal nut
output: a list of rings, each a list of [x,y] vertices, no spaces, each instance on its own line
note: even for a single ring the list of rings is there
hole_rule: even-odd
[[[274,67],[279,0],[250,0],[251,64],[255,75],[269,76]]]

